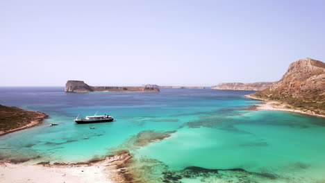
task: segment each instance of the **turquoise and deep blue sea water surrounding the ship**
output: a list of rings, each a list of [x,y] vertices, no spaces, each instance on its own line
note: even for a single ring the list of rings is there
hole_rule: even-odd
[[[72,163],[126,149],[134,156],[130,171],[145,182],[325,182],[325,120],[245,110],[260,103],[242,97],[249,93],[162,89],[67,94],[63,87],[1,87],[0,104],[38,110],[50,118],[0,137],[0,158]],[[97,111],[115,121],[73,121],[78,114]],[[137,134],[146,132],[170,137],[135,146]]]

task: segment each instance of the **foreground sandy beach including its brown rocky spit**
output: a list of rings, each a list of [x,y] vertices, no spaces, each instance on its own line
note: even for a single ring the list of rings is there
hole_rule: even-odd
[[[11,164],[0,162],[0,182],[124,182],[119,166],[131,159],[128,152],[111,155],[98,162],[78,164]]]

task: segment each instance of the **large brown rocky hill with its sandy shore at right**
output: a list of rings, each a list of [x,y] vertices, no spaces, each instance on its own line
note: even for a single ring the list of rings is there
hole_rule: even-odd
[[[278,82],[248,98],[266,101],[261,110],[284,110],[325,116],[325,64],[305,58],[292,62]]]

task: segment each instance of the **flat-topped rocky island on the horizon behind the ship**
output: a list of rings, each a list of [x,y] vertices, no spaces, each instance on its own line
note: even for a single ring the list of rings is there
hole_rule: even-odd
[[[142,87],[92,87],[82,80],[68,80],[65,84],[65,92],[160,92],[156,85],[144,85]]]

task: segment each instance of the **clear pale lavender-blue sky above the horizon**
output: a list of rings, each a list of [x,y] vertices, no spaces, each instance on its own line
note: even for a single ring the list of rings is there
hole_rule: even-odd
[[[325,1],[0,1],[0,86],[274,81],[324,44]]]

